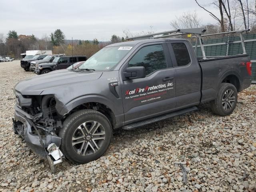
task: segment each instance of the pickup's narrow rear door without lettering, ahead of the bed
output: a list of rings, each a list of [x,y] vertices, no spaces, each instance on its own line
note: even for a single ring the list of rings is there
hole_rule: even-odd
[[[167,44],[176,73],[176,108],[199,104],[201,71],[194,50],[187,41],[172,41]]]

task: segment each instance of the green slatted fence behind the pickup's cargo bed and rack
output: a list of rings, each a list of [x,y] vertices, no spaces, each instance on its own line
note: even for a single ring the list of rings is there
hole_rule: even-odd
[[[243,53],[240,36],[238,35],[208,36],[203,38],[204,51],[206,56],[225,56]],[[252,81],[256,83],[256,33],[243,33],[244,45],[247,54],[250,54],[252,61]],[[195,46],[195,38],[191,43]],[[200,46],[197,46],[196,54],[202,57]]]

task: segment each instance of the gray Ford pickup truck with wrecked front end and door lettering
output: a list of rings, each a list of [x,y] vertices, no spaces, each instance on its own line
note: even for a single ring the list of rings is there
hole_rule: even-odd
[[[18,82],[13,130],[48,160],[56,152],[53,164],[63,154],[86,163],[106,152],[113,129],[192,112],[204,102],[214,114],[231,114],[250,74],[248,54],[196,58],[186,39],[111,44],[76,70]]]

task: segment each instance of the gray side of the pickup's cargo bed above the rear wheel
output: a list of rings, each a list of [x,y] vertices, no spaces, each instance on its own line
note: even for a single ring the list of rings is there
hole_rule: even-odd
[[[236,84],[238,92],[250,85],[250,76],[246,70],[246,62],[250,62],[248,54],[238,54],[234,56],[208,57],[207,59],[198,58],[201,68],[201,102],[207,102],[216,98],[221,82],[226,82],[229,76]],[[213,67],[214,66],[214,67]]]

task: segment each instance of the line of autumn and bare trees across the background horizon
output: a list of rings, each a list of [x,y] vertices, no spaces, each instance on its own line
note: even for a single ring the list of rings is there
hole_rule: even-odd
[[[205,14],[209,14],[216,20],[214,23],[203,23],[203,19],[197,12],[184,12],[170,21],[171,29],[178,28],[198,28],[206,27],[206,34],[218,32],[250,29],[256,31],[256,2],[255,0],[212,0],[205,4],[204,0],[194,0],[202,8]],[[218,14],[211,10],[215,8]],[[90,57],[96,51],[112,43],[124,42],[125,38],[155,32],[153,26],[149,30],[140,32],[130,32],[123,30],[124,37],[113,34],[107,42],[100,42],[97,38],[93,40],[66,40],[62,30],[57,29],[50,35],[44,34],[42,38],[37,38],[34,34],[18,34],[15,30],[10,30],[6,36],[0,33],[0,55],[10,55],[14,58],[21,58],[20,54],[26,50],[52,50],[53,53],[65,53],[86,55]]]

